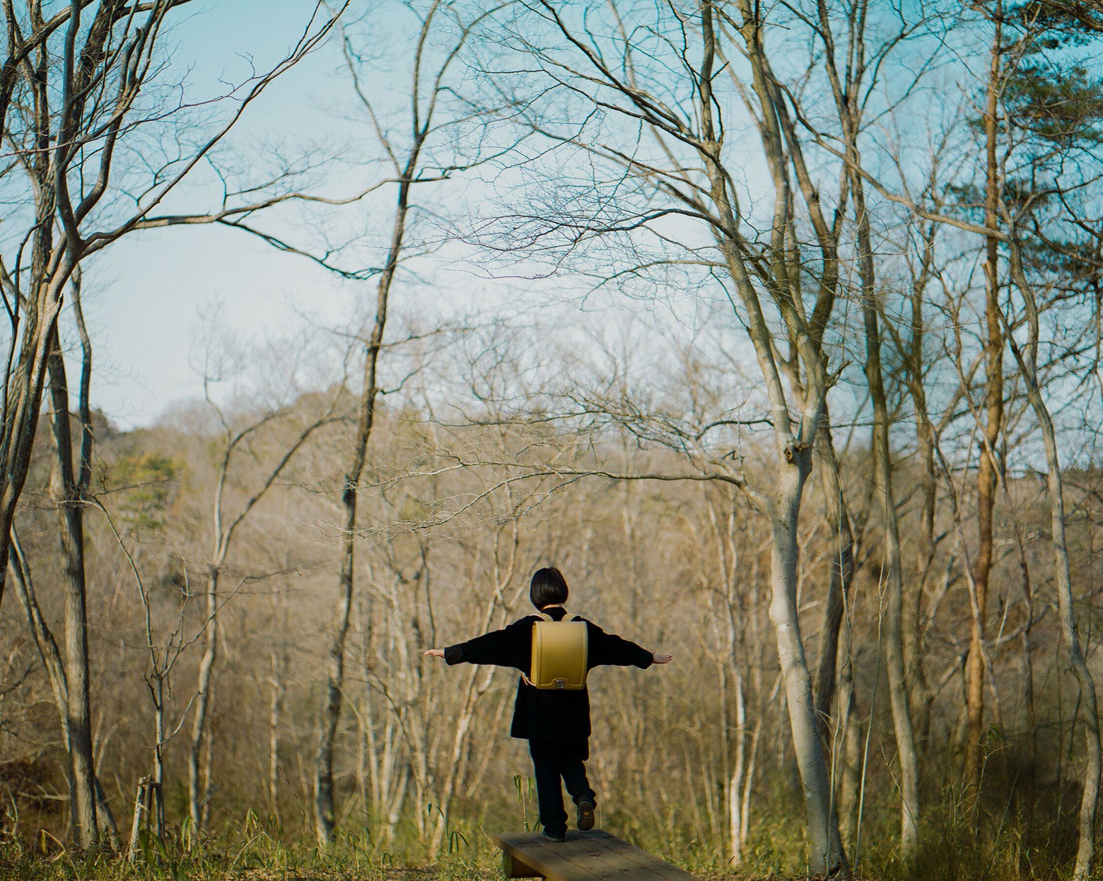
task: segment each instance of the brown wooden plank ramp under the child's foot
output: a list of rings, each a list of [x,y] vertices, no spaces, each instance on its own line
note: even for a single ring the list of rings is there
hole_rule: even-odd
[[[567,832],[563,844],[539,832],[490,832],[506,878],[548,881],[697,881],[676,866],[601,829]]]

